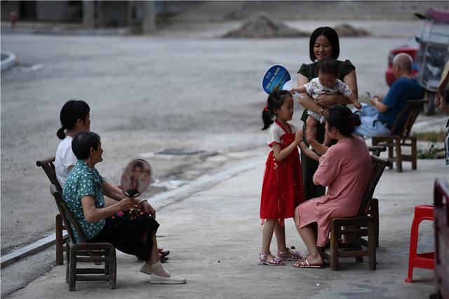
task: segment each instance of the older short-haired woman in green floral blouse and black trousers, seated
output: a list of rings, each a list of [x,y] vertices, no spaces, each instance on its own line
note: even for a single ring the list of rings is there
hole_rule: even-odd
[[[90,242],[108,242],[119,251],[138,255],[145,263],[140,272],[149,274],[152,284],[185,284],[185,278],[174,277],[163,269],[156,242],[156,211],[145,200],[124,197],[123,192],[107,182],[95,168],[101,162],[100,136],[90,131],[74,135],[72,150],[78,159],[62,189],[67,203],[83,234]],[[105,206],[103,194],[116,203]],[[139,204],[149,214],[134,217],[128,211]],[[123,213],[124,211],[124,213]],[[75,232],[76,241],[81,241]]]

